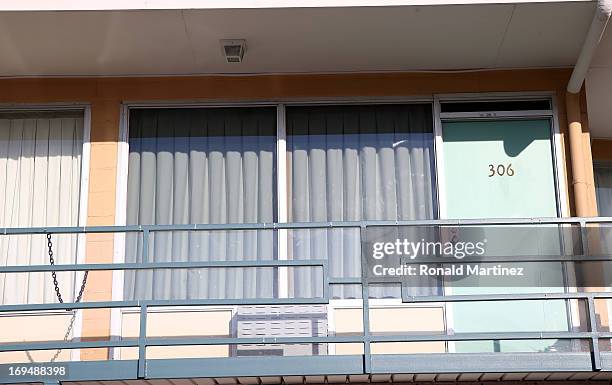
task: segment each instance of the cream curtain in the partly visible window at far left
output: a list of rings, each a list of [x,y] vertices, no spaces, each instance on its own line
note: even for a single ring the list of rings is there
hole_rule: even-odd
[[[77,226],[81,112],[0,113],[0,226]],[[56,263],[76,262],[77,236],[54,235]],[[44,235],[0,236],[0,263],[48,264]],[[74,273],[58,273],[66,302]],[[56,301],[50,273],[0,275],[3,304]]]

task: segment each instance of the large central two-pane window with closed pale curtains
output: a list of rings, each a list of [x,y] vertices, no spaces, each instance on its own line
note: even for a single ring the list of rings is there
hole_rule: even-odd
[[[132,109],[126,222],[262,223],[278,220],[281,211],[288,215],[280,220],[292,222],[434,218],[431,110],[431,104],[287,107],[286,121],[278,125],[286,127],[287,138],[279,159],[275,108]],[[287,170],[280,183],[277,161]],[[279,194],[282,185],[286,193]],[[278,247],[278,236],[288,238],[286,250]],[[138,234],[126,236],[126,261],[142,260],[142,249]],[[333,276],[361,274],[355,229],[154,232],[146,254],[156,262],[329,259]],[[124,295],[262,298],[288,290],[290,296],[318,297],[322,274],[315,270],[126,272]],[[288,287],[279,288],[280,282]],[[358,293],[346,287],[332,296]]]

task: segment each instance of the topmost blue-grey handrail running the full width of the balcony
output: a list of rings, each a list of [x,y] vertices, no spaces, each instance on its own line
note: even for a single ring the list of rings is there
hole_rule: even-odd
[[[60,226],[60,227],[3,227],[0,234],[67,234],[67,233],[121,233],[148,231],[193,231],[193,230],[278,230],[278,229],[325,229],[372,226],[458,226],[458,225],[538,225],[612,223],[612,217],[589,218],[481,218],[481,219],[428,219],[407,221],[329,221],[294,223],[228,223],[228,224],[175,224],[175,225],[127,225],[127,226]]]

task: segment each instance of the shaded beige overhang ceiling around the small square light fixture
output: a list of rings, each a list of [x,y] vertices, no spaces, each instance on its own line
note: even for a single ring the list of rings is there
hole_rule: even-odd
[[[593,2],[0,12],[0,76],[571,66]],[[240,64],[219,39],[245,38]]]

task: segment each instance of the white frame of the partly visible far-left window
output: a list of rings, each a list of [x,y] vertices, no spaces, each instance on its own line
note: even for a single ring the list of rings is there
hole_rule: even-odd
[[[79,186],[79,216],[78,227],[87,225],[87,210],[89,203],[89,166],[91,158],[91,105],[89,103],[2,103],[0,104],[0,112],[37,112],[37,111],[82,111],[83,113],[83,147],[81,149],[81,181]],[[79,234],[77,237],[77,255],[76,263],[85,263],[86,250],[86,235]],[[76,282],[81,282],[83,278],[82,272],[75,274],[75,285],[73,287],[73,298],[76,298],[80,285]],[[80,339],[83,333],[83,311],[77,312],[74,327],[72,329],[72,338]],[[74,311],[71,312],[73,314]],[[8,312],[3,313],[0,317],[13,316],[34,316],[34,315],[66,315],[66,311],[59,310],[40,310],[29,312]],[[72,349],[70,351],[70,360],[79,361],[81,356],[80,349]]]

